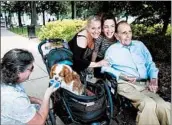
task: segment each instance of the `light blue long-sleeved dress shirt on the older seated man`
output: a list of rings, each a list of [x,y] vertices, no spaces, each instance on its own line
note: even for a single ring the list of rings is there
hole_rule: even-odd
[[[111,66],[103,66],[102,72],[114,75],[117,81],[121,73],[137,79],[158,77],[159,70],[152,61],[150,52],[140,41],[132,40],[129,46],[124,46],[119,41],[114,43],[107,49],[105,59]]]

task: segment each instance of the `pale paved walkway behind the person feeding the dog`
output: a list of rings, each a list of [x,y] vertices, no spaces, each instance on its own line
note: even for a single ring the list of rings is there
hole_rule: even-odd
[[[7,51],[13,48],[24,48],[32,52],[35,58],[35,68],[30,79],[24,83],[24,87],[28,95],[43,98],[45,90],[48,87],[49,77],[42,57],[38,52],[38,44],[39,41],[37,39],[29,40],[5,28],[1,28],[1,58]],[[58,118],[57,123],[57,125],[63,125]]]

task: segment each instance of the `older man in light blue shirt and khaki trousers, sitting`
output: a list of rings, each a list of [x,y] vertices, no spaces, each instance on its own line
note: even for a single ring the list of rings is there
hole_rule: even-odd
[[[130,25],[121,21],[115,33],[117,43],[105,53],[111,66],[103,66],[102,72],[113,74],[117,80],[119,95],[131,100],[138,109],[138,125],[170,125],[170,103],[158,94],[158,69],[146,46],[132,40]]]

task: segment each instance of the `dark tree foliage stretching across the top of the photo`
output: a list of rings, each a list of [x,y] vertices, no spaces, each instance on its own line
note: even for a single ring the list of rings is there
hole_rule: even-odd
[[[17,12],[20,17],[23,12],[29,12],[27,1],[3,1],[3,9],[7,12]],[[171,1],[36,1],[38,13],[47,11],[55,14],[57,19],[83,18],[93,14],[112,12],[119,20],[129,16],[136,17],[134,24],[150,26],[161,23],[161,33],[165,34],[168,24],[171,22]],[[45,17],[43,17],[45,18]],[[19,18],[20,20],[20,18]],[[43,22],[45,24],[45,21]],[[19,25],[21,25],[19,21]]]

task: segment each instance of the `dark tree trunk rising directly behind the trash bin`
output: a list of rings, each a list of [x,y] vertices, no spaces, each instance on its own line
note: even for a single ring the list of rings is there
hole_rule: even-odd
[[[31,25],[37,25],[37,14],[35,1],[31,1]]]

